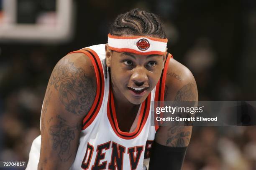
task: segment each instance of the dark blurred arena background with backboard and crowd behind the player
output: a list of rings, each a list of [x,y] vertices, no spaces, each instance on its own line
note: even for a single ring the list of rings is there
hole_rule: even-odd
[[[199,100],[256,99],[255,0],[0,0],[0,160],[28,160],[56,62],[135,7],[160,16]],[[183,170],[219,169],[256,169],[255,126],[194,127]]]

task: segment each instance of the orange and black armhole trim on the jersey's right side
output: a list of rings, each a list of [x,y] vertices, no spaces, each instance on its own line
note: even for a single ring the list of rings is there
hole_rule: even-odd
[[[160,80],[157,82],[157,85],[156,85],[154,101],[164,101],[165,80],[166,80],[166,75],[167,75],[167,71],[168,71],[169,61],[171,58],[173,58],[172,55],[169,52],[167,52],[166,60],[165,60],[165,64],[164,64],[164,70],[161,74]],[[156,113],[154,113],[154,114],[156,114]],[[163,117],[162,113],[160,113],[160,116]],[[157,131],[159,128],[159,122],[156,121],[156,119],[154,119],[154,125],[155,125],[155,130]]]

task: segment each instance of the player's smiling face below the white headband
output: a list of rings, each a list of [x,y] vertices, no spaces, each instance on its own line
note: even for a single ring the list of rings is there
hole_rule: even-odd
[[[116,52],[106,45],[106,60],[111,68],[112,89],[118,95],[115,97],[138,105],[146,100],[159,81],[165,57]]]

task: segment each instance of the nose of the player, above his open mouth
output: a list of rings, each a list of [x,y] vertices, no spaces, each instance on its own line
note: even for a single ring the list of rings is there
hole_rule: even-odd
[[[144,82],[148,80],[148,76],[146,74],[146,70],[143,67],[137,67],[133,71],[131,80],[135,83],[136,86],[142,86]]]

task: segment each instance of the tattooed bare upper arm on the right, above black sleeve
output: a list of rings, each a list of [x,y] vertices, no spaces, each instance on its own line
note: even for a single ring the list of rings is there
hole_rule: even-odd
[[[197,85],[190,70],[174,59],[169,61],[164,92],[165,101],[197,101]],[[189,144],[192,126],[161,126],[156,142],[161,145],[184,147]]]

